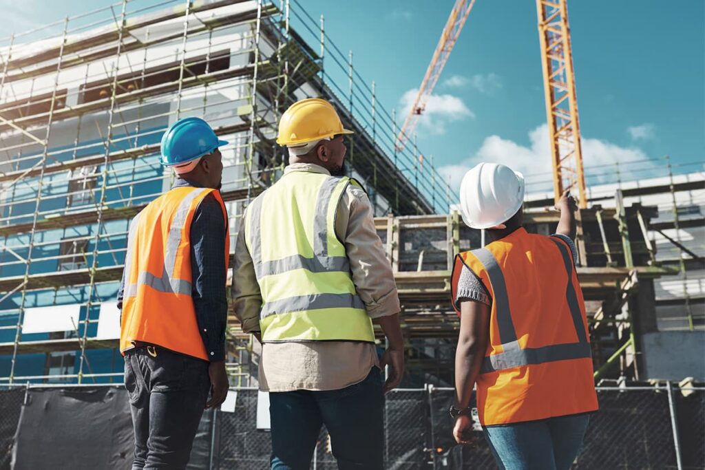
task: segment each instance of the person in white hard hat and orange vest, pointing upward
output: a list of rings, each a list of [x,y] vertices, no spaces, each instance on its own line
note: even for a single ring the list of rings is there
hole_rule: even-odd
[[[459,254],[453,307],[453,435],[469,443],[470,397],[501,469],[568,469],[597,409],[585,305],[575,264],[575,201],[566,191],[550,237],[522,227],[524,178],[479,163],[460,187],[462,219],[486,230],[486,247]]]

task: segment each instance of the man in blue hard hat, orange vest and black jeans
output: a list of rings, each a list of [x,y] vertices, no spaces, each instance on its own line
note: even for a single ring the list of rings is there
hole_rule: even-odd
[[[202,119],[171,125],[161,164],[178,179],[130,223],[118,307],[133,469],[185,469],[204,408],[228,392],[225,144]]]

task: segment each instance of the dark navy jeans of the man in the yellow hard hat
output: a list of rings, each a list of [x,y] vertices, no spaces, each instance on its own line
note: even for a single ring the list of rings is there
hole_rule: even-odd
[[[325,424],[338,469],[382,469],[384,422],[382,382],[372,368],[364,381],[326,392],[272,392],[271,468],[309,469]]]

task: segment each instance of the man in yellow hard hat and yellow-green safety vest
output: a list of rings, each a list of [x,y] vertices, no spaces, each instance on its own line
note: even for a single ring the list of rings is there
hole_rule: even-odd
[[[272,469],[308,469],[321,424],[338,468],[383,465],[383,393],[404,370],[400,305],[367,194],[343,176],[350,133],[328,101],[290,106],[277,139],[289,165],[238,233],[235,315],[262,342]],[[388,340],[381,361],[372,319]]]

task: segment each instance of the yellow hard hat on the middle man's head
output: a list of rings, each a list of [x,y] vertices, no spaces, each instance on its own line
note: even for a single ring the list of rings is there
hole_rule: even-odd
[[[289,106],[279,121],[279,145],[305,144],[338,134],[353,134],[343,128],[336,109],[325,99],[309,98]]]

